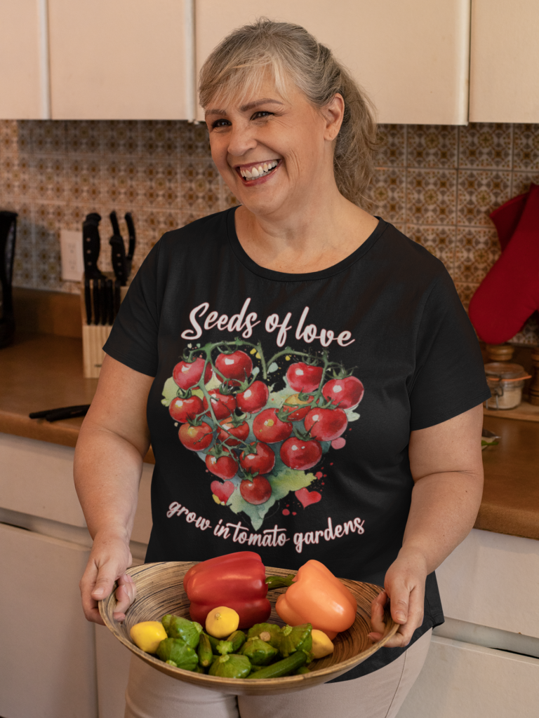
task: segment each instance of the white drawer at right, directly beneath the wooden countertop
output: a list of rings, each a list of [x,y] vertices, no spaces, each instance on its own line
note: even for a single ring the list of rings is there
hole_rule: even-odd
[[[539,541],[474,528],[436,576],[444,615],[539,638]]]

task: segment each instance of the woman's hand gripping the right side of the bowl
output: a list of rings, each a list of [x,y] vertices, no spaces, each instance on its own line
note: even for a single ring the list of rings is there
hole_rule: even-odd
[[[387,569],[382,591],[371,604],[372,633],[369,638],[376,643],[384,635],[384,606],[390,601],[391,616],[400,623],[385,648],[404,648],[410,643],[413,632],[423,623],[425,579],[427,567],[425,556],[418,549],[400,550],[397,559]]]

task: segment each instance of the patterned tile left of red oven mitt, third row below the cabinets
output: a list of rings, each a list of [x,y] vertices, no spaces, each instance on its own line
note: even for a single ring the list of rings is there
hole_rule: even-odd
[[[454,281],[479,284],[500,255],[494,227],[459,227],[456,235]]]

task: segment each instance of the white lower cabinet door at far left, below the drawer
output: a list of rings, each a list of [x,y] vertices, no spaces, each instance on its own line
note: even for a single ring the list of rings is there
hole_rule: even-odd
[[[97,718],[94,627],[78,590],[89,554],[0,523],[4,718]]]

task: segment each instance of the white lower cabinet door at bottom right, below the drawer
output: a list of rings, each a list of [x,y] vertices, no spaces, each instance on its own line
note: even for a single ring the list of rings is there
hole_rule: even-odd
[[[433,636],[397,718],[536,718],[539,659]]]

